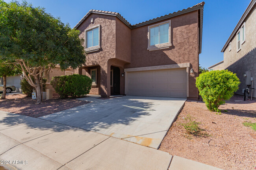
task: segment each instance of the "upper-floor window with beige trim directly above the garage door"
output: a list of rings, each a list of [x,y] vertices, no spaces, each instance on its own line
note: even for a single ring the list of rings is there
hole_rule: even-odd
[[[148,26],[148,50],[171,46],[171,20]]]

